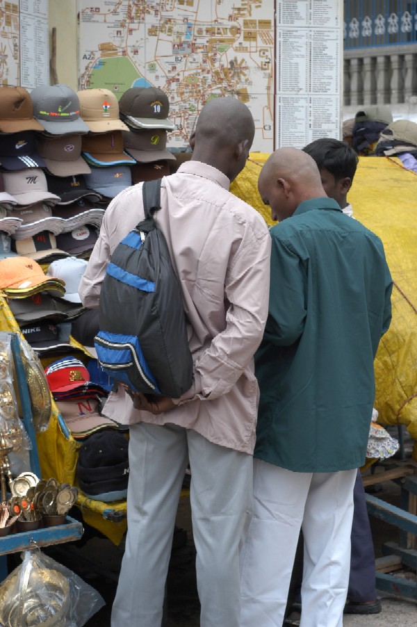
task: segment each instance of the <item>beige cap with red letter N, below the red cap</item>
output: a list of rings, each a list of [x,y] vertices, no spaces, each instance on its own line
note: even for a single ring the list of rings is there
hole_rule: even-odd
[[[97,432],[118,428],[111,418],[99,414],[99,403],[92,398],[57,400],[56,405],[75,439],[85,439]]]

